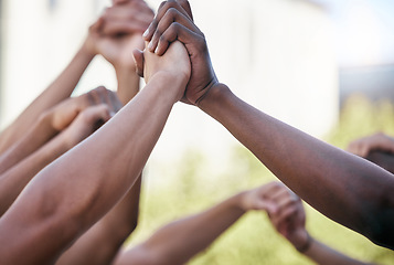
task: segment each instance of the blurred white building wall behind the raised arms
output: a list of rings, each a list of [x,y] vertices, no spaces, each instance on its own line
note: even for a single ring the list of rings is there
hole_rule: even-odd
[[[156,10],[158,0],[148,1]],[[308,0],[190,0],[221,82],[257,108],[316,136],[338,115],[332,28]],[[3,0],[1,117],[4,127],[65,67],[105,0]],[[113,68],[95,60],[77,93],[116,88]],[[235,140],[192,106],[177,104],[153,159],[187,148],[213,157]]]

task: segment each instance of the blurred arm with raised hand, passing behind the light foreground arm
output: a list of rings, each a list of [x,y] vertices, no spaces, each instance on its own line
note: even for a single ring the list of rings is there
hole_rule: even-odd
[[[142,0],[113,1],[97,29],[97,53],[113,64],[118,81],[117,94],[127,104],[139,91],[132,51],[143,47],[142,32],[153,18]],[[67,250],[57,264],[109,264],[124,241],[137,226],[141,176],[125,198]]]

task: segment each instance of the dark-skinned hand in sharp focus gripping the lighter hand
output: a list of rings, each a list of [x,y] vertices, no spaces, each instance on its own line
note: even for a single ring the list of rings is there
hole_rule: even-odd
[[[158,55],[164,54],[170,43],[177,40],[184,44],[191,62],[191,77],[183,102],[199,105],[211,87],[219,83],[205,36],[193,23],[187,0],[162,2],[143,36],[146,41],[150,41],[148,50]],[[143,74],[142,70],[139,68],[138,72]]]

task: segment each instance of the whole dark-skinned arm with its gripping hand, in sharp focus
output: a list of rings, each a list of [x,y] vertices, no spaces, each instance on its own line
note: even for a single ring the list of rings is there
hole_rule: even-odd
[[[192,74],[185,96],[225,126],[291,190],[328,218],[394,248],[394,178],[380,167],[322,142],[236,97],[217,82],[204,35],[182,6],[164,2],[145,34],[161,55],[184,43]],[[161,34],[160,34],[161,33]]]

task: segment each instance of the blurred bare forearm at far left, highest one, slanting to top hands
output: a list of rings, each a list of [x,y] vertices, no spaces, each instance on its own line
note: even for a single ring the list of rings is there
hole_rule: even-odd
[[[0,135],[0,153],[23,137],[46,109],[71,96],[82,74],[93,60],[85,47],[81,47],[61,75],[35,98],[23,113]]]

